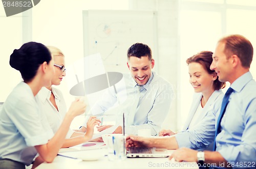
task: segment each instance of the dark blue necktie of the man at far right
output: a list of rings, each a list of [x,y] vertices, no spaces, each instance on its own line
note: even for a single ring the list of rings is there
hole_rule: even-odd
[[[221,132],[221,119],[226,111],[227,108],[227,104],[228,104],[228,99],[230,94],[233,92],[234,90],[232,88],[228,88],[227,92],[224,95],[224,98],[222,100],[222,105],[221,105],[221,112],[217,121],[217,125],[216,125],[216,131],[215,131],[215,138],[214,138],[214,151],[216,150],[216,136]]]

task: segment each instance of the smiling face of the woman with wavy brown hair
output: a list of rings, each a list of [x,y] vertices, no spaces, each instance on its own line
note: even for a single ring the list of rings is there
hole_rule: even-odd
[[[214,89],[216,74],[209,74],[204,67],[197,62],[188,64],[189,83],[193,86],[195,92],[208,92]]]

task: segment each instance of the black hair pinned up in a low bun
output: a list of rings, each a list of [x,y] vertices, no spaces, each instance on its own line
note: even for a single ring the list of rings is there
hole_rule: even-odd
[[[28,42],[10,56],[10,65],[20,71],[24,82],[30,82],[37,73],[40,64],[51,61],[52,56],[44,44]]]

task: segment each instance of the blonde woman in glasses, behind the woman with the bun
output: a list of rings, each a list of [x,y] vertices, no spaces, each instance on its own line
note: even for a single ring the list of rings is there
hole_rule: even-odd
[[[41,104],[42,112],[46,114],[48,122],[55,133],[67,112],[63,94],[59,89],[53,87],[53,85],[60,85],[63,78],[66,76],[65,56],[57,47],[47,46],[47,48],[53,57],[55,73],[51,80],[51,85],[42,87],[42,89],[37,93],[36,99]],[[88,130],[85,134],[69,129],[62,148],[75,146],[77,144],[89,141],[93,136],[94,126],[99,125],[99,123],[99,119],[95,118],[95,116],[91,116],[88,120]]]

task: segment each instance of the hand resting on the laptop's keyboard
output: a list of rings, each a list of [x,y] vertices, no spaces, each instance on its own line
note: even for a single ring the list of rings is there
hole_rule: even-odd
[[[126,137],[125,147],[150,147],[151,139],[130,135]]]

